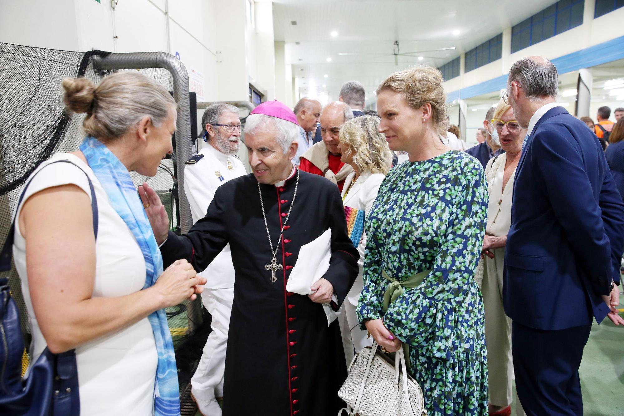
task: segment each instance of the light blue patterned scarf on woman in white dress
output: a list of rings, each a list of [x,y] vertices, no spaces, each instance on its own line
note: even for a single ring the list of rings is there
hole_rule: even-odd
[[[139,243],[147,270],[144,285],[144,289],[147,289],[154,285],[158,276],[162,274],[162,256],[128,169],[95,137],[86,137],[80,145],[80,151],[106,191],[110,205],[128,225]],[[154,414],[180,415],[178,372],[167,315],[164,309],[160,309],[152,312],[148,319],[154,331],[158,350]]]

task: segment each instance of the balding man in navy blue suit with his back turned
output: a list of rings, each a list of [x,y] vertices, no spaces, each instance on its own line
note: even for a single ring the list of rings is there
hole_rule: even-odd
[[[527,415],[582,415],[578,367],[592,319],[616,325],[624,204],[602,147],[555,102],[557,69],[516,62],[507,99],[528,126],[507,235],[503,299]]]

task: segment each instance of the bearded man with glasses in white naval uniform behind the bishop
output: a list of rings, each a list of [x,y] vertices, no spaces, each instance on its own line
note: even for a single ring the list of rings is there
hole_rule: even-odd
[[[185,162],[184,190],[190,204],[193,223],[202,219],[225,182],[247,172],[235,156],[240,144],[241,125],[238,109],[229,104],[213,104],[204,111],[202,125],[204,146],[197,156]],[[221,415],[217,397],[223,396],[225,350],[232,312],[234,267],[230,245],[200,273],[207,283],[202,292],[204,307],[212,315],[212,332],[203,348],[197,370],[191,379],[191,394],[204,416]]]

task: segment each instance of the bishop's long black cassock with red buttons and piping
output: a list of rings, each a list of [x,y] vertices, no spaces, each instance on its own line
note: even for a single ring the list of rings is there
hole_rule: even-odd
[[[253,135],[247,132],[246,136],[250,137],[246,145],[254,173],[266,175],[270,166],[252,161]],[[257,145],[260,154],[267,152],[265,144]],[[293,146],[296,152],[296,140]],[[332,254],[323,278],[333,286],[338,298],[333,307],[338,309],[358,274],[358,251],[346,231],[338,187],[324,177],[297,171],[286,160],[290,166],[283,169],[290,176],[260,184],[268,232],[274,248],[278,243],[276,259],[283,265],[276,271],[275,282],[267,267],[273,254],[255,174],[219,187],[206,216],[185,235],[169,232],[160,247],[165,267],[183,258],[198,271],[206,269],[227,243],[232,248],[235,286],[225,360],[224,416],[325,416],[336,414],[344,405],[338,397],[346,379],[338,322],[328,327],[323,305],[308,295],[288,292],[286,282],[301,246],[331,229]],[[286,217],[288,225],[284,226]]]

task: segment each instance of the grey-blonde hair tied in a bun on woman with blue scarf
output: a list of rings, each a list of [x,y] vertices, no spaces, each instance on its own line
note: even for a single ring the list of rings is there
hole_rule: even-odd
[[[110,141],[123,136],[143,117],[155,127],[175,116],[175,101],[154,79],[136,71],[117,72],[99,86],[87,78],[66,78],[63,101],[66,110],[87,113],[82,125],[89,136]]]

